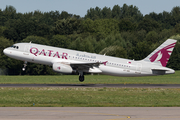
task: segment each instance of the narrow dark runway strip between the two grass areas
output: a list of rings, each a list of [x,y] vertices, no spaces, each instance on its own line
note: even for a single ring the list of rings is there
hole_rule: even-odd
[[[180,84],[0,84],[0,87],[180,88]]]

